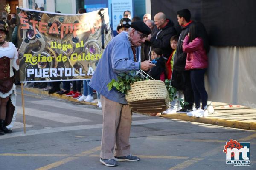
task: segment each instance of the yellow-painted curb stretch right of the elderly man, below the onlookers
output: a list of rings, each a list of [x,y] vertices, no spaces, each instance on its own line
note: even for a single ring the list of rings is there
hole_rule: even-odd
[[[256,130],[256,123],[250,122],[242,122],[242,121],[233,121],[233,120],[226,120],[226,119],[217,119],[217,118],[211,118],[211,117],[193,117],[193,116],[187,116],[183,113],[175,113],[175,114],[169,114],[169,115],[161,115],[163,118],[168,119],[180,119],[190,122],[199,122],[199,123],[207,123],[212,125],[219,125],[224,127],[233,127],[233,128],[239,128],[239,129],[247,129],[247,130]]]

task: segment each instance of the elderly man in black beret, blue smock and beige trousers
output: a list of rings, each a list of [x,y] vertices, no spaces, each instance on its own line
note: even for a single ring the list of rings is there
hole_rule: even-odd
[[[140,45],[151,31],[143,21],[131,23],[128,32],[122,32],[107,45],[89,85],[99,91],[102,100],[103,129],[100,162],[117,166],[116,161],[139,161],[130,153],[131,108],[125,94],[115,89],[108,91],[108,83],[117,74],[131,70],[148,70],[150,61],[140,62]],[[115,151],[114,151],[115,150]]]

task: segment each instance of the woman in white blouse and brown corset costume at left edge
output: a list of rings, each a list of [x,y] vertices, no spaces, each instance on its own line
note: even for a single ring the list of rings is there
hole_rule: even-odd
[[[12,133],[17,114],[16,86],[12,68],[19,70],[18,52],[12,42],[5,41],[8,25],[0,21],[0,135]]]

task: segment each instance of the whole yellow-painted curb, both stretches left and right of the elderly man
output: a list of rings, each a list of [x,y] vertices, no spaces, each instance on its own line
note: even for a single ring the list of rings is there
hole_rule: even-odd
[[[59,94],[48,94],[48,91],[39,90],[36,88],[24,88],[26,91],[35,93],[35,94],[43,94],[45,96],[49,97],[56,97],[59,99],[68,100],[71,102],[76,102],[80,104],[86,104],[86,105],[94,105],[97,106],[96,103],[91,102],[79,102],[77,99],[73,99],[72,97],[65,96],[65,95],[59,95]],[[167,119],[179,119],[179,120],[185,120],[190,122],[198,122],[198,123],[206,123],[206,124],[212,124],[212,125],[219,125],[224,127],[232,127],[232,128],[238,128],[238,129],[247,129],[247,130],[256,130],[256,123],[253,122],[242,122],[242,121],[234,121],[234,120],[227,120],[227,119],[217,119],[217,118],[211,118],[211,117],[193,117],[193,116],[187,116],[183,113],[175,113],[175,114],[164,114],[160,117],[167,118]]]

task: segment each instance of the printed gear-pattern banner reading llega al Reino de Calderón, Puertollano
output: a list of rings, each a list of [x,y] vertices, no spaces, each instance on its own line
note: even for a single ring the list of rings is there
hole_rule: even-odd
[[[20,82],[90,79],[111,40],[108,8],[61,14],[17,8]]]

